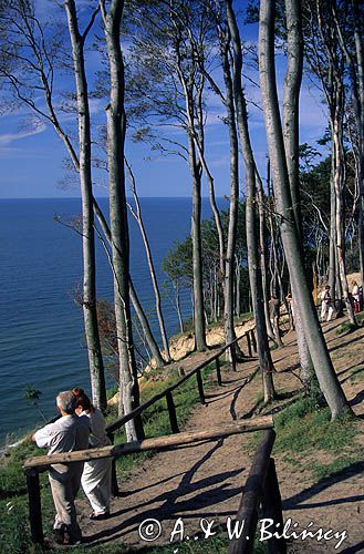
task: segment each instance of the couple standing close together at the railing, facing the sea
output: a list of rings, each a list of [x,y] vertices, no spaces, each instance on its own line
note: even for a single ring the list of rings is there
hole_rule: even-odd
[[[48,454],[111,444],[102,411],[92,406],[82,389],[60,392],[56,409],[61,418],[32,435],[38,447],[49,449]],[[90,519],[97,521],[110,516],[111,472],[111,458],[50,466],[49,480],[56,512],[53,525],[56,543],[79,544],[82,541],[74,505],[80,484],[93,509]]]

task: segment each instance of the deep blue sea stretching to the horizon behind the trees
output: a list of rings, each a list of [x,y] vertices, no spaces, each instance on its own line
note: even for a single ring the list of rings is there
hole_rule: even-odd
[[[107,214],[107,198],[98,202]],[[223,199],[219,204],[225,207]],[[167,279],[163,259],[190,233],[191,199],[141,198],[141,205],[162,288]],[[1,448],[40,425],[43,417],[53,418],[59,391],[80,386],[90,392],[82,310],[74,300],[82,286],[82,244],[67,226],[80,213],[80,198],[0,201]],[[210,216],[209,201],[204,198],[202,217]],[[131,215],[128,222],[133,281],[160,343],[143,240]],[[98,239],[96,264],[97,297],[112,300],[111,267]],[[185,290],[181,304],[187,319],[189,291]],[[163,297],[163,310],[168,335],[178,332],[168,295]],[[107,383],[113,384],[110,376]],[[40,391],[35,403],[27,400],[29,389]]]

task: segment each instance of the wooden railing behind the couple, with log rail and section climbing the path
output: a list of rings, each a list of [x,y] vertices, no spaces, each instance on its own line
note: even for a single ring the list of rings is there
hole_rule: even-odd
[[[156,403],[158,400],[166,398],[167,409],[169,414],[170,430],[173,433],[178,433],[176,435],[166,435],[159,437],[157,439],[146,439],[137,442],[129,443],[121,443],[113,444],[111,447],[104,447],[101,449],[89,449],[84,451],[75,451],[67,452],[63,454],[52,454],[45,456],[37,456],[30,458],[25,460],[23,469],[27,476],[27,486],[28,486],[28,495],[29,495],[29,517],[30,517],[30,526],[31,526],[31,535],[32,541],[34,543],[43,542],[43,530],[42,530],[42,515],[41,515],[41,495],[40,495],[40,484],[39,484],[39,473],[45,471],[53,463],[71,463],[76,461],[90,461],[96,460],[100,458],[113,458],[113,494],[116,495],[118,492],[117,480],[116,480],[116,471],[115,471],[115,460],[119,455],[129,454],[133,452],[141,452],[142,450],[155,450],[160,448],[168,448],[177,444],[186,444],[188,442],[196,442],[200,440],[205,440],[207,438],[212,439],[217,437],[226,437],[229,434],[236,434],[237,432],[247,432],[247,431],[256,431],[259,429],[268,429],[272,427],[272,420],[268,420],[267,418],[257,418],[254,421],[241,422],[230,424],[230,427],[226,429],[218,430],[209,430],[207,433],[210,433],[208,437],[205,431],[196,432],[196,433],[180,433],[178,428],[178,420],[176,413],[176,407],[174,403],[173,392],[180,387],[184,382],[190,379],[196,375],[197,379],[197,388],[199,393],[199,399],[202,404],[206,403],[205,391],[204,391],[204,380],[201,371],[206,366],[209,366],[215,361],[216,363],[216,372],[217,372],[217,381],[221,386],[221,367],[219,358],[229,349],[230,350],[230,362],[232,370],[237,370],[237,357],[235,345],[237,341],[242,338],[247,339],[248,353],[252,357],[252,348],[257,349],[254,330],[250,329],[245,335],[237,337],[232,342],[223,346],[219,349],[215,355],[208,357],[201,363],[199,363],[195,369],[193,369],[189,373],[181,377],[176,383],[166,388],[164,391],[150,398],[147,402],[144,402],[142,406],[127,413],[123,418],[114,421],[110,425],[106,427],[106,432],[108,433],[112,443],[114,443],[114,433],[118,429],[125,425],[131,420],[135,418],[139,418],[141,414],[150,406]],[[232,425],[232,427],[231,427]],[[204,434],[205,433],[205,434]],[[189,437],[187,437],[189,435]]]

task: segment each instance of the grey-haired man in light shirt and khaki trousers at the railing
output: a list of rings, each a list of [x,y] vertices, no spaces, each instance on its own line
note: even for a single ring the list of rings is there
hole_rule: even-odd
[[[32,435],[40,448],[48,448],[48,454],[62,454],[89,448],[90,423],[87,418],[75,414],[76,401],[72,391],[60,392],[56,409],[61,414]],[[53,525],[54,540],[59,544],[80,544],[82,533],[76,520],[75,496],[81,484],[83,462],[56,463],[49,469],[49,480],[55,507]]]

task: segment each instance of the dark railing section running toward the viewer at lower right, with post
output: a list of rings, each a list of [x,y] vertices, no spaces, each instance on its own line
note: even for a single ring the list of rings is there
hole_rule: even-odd
[[[282,500],[274,460],[271,458],[274,439],[275,432],[269,429],[264,432],[261,442],[257,447],[239,511],[236,516],[236,521],[241,525],[242,533],[240,536],[236,536],[231,540],[228,554],[251,554],[253,552],[258,517],[260,514],[262,517],[273,521],[271,526],[273,532],[282,534]],[[287,553],[284,537],[277,538],[272,536],[267,543],[269,552],[274,554]]]

